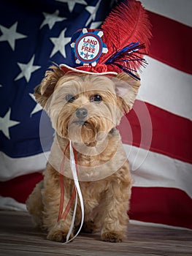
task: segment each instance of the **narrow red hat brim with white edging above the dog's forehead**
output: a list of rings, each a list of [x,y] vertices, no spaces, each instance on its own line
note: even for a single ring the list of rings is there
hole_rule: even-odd
[[[116,76],[118,75],[117,72],[90,72],[82,69],[76,69],[74,67],[69,67],[66,64],[60,64],[59,68],[63,70],[65,73],[75,73],[75,74],[87,74],[87,75],[112,75]]]

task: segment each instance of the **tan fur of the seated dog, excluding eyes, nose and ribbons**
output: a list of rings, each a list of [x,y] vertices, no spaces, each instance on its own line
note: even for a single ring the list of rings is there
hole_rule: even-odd
[[[85,206],[82,230],[88,233],[101,230],[103,241],[119,242],[125,238],[133,181],[115,127],[123,113],[131,109],[139,84],[125,73],[117,78],[70,75],[53,66],[35,89],[37,102],[50,116],[55,139],[44,180],[37,184],[26,204],[37,225],[47,230],[48,239],[65,241],[72,222],[73,206],[66,219],[58,220],[59,170],[69,140],[77,151],[78,178]],[[100,102],[94,100],[94,95],[98,94]],[[73,100],[67,102],[66,95],[74,96]],[[79,108],[88,111],[83,120],[75,114]],[[68,148],[64,166],[64,208],[73,188]],[[80,219],[78,202],[74,230],[80,225]]]

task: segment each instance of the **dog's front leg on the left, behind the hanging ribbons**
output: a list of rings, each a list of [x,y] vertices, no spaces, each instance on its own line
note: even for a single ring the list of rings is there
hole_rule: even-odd
[[[44,203],[44,226],[48,230],[47,239],[52,241],[66,241],[66,236],[72,224],[72,210],[65,219],[58,220],[60,207],[61,188],[59,184],[59,173],[49,164],[45,171],[45,189],[42,191]],[[72,195],[72,181],[64,178],[64,210]],[[70,238],[73,237],[73,233]]]

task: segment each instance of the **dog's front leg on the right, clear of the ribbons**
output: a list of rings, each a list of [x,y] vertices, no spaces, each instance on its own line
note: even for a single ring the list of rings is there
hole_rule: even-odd
[[[110,181],[103,199],[102,241],[121,242],[126,237],[131,184],[132,180],[129,174],[123,180],[115,176]]]

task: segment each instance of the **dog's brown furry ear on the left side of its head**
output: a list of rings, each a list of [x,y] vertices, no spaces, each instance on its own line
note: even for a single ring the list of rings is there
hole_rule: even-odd
[[[45,72],[45,78],[43,78],[42,83],[36,86],[34,89],[34,96],[37,102],[44,108],[47,99],[53,94],[55,85],[59,78],[64,75],[64,72],[56,66],[50,66],[50,68]]]

